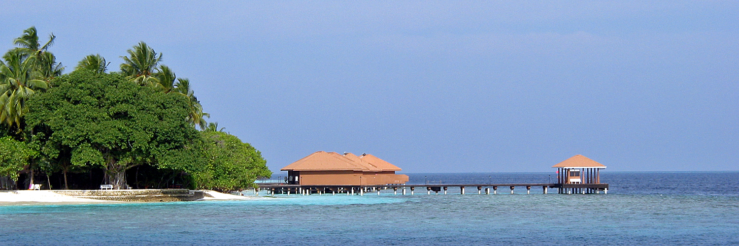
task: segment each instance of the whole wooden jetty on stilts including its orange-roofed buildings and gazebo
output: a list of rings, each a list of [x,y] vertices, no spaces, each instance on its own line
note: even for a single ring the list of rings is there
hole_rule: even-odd
[[[347,194],[364,195],[368,192],[392,190],[393,194],[415,194],[423,192],[426,194],[447,194],[449,188],[454,188],[460,194],[465,194],[466,188],[472,192],[477,189],[477,194],[497,194],[498,188],[509,188],[511,194],[515,194],[517,187],[525,188],[526,194],[531,194],[532,187],[541,187],[542,193],[547,194],[548,189],[555,188],[558,194],[599,194],[608,192],[608,184],[600,183],[600,169],[605,168],[588,157],[576,155],[568,160],[558,163],[553,168],[557,169],[556,183],[487,183],[487,184],[426,184],[408,185],[408,176],[395,174],[401,171],[395,165],[387,163],[371,154],[356,156],[344,152],[317,151],[301,160],[296,161],[282,171],[287,171],[285,182],[259,183],[254,189],[255,194],[265,190],[270,194]],[[420,190],[420,191],[417,191]]]

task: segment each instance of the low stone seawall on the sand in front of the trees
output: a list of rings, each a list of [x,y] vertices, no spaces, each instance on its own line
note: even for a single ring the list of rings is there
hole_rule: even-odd
[[[188,189],[64,190],[53,192],[70,197],[122,202],[180,202],[194,201],[204,197],[203,191]]]

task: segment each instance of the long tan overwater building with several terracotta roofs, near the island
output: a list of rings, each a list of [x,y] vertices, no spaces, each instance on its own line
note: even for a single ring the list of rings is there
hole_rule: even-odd
[[[372,154],[317,151],[280,169],[290,185],[391,185],[408,182],[408,176]]]

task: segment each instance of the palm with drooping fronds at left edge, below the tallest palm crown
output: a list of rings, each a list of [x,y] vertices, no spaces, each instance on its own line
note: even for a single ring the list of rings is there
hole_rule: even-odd
[[[26,100],[38,89],[48,89],[43,74],[34,69],[35,56],[27,57],[21,49],[11,49],[0,62],[0,121],[21,129]]]

